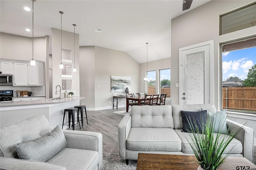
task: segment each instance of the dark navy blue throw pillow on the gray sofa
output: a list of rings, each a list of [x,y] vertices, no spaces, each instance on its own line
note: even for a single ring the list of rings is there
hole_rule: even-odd
[[[180,113],[183,126],[182,132],[196,132],[198,130],[200,133],[202,133],[202,130],[205,129],[207,111],[180,111]],[[192,128],[194,128],[193,130],[191,129],[190,125]]]

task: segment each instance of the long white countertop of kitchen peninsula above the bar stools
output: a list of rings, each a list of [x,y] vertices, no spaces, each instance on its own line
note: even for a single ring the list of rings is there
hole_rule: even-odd
[[[70,101],[76,101],[80,99],[84,99],[85,97],[67,97],[61,99],[42,99],[42,100],[34,100],[34,101],[14,101],[14,102],[2,102],[0,103],[0,107],[13,107],[13,106],[26,106],[26,105],[44,105],[44,104],[58,104],[65,103]]]

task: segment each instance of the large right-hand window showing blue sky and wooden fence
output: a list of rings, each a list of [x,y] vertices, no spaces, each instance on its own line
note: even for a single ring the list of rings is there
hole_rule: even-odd
[[[256,38],[223,43],[222,108],[256,112]]]

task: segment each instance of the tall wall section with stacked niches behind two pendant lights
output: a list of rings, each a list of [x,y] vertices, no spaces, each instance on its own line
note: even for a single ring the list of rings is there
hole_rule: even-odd
[[[59,65],[61,62],[61,30],[52,28],[52,97],[59,97],[60,93],[55,94],[56,86],[62,86],[62,79],[71,79],[72,80],[72,90],[76,90],[74,96],[80,96],[80,71],[79,71],[79,34],[76,35],[75,42],[75,57],[76,57],[76,72],[73,72],[72,69],[72,78],[62,78],[62,69]],[[74,67],[74,32],[67,32],[62,30],[62,49],[71,50],[71,57],[73,60],[72,68]],[[71,58],[70,58],[71,59]],[[66,64],[66,63],[63,63]],[[59,91],[59,89],[57,88]],[[62,93],[61,97],[64,97]]]

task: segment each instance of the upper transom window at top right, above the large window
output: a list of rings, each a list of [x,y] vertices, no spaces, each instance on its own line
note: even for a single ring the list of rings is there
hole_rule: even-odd
[[[256,2],[220,16],[220,35],[256,26]]]

